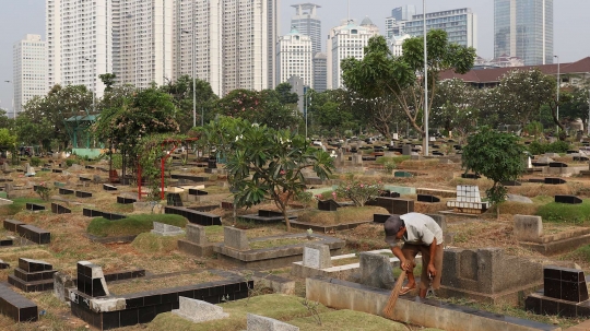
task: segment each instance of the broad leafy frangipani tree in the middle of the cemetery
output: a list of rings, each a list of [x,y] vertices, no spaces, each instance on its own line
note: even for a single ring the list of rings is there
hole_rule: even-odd
[[[309,168],[326,179],[333,169],[332,158],[290,130],[248,121],[243,125],[243,133],[236,137],[227,159],[235,204],[249,208],[272,200],[283,213],[288,232],[286,209],[290,200],[305,189],[302,172]]]

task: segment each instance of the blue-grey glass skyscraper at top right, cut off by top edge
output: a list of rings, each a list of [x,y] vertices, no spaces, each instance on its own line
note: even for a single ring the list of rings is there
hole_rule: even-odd
[[[553,63],[553,0],[495,0],[494,57]]]

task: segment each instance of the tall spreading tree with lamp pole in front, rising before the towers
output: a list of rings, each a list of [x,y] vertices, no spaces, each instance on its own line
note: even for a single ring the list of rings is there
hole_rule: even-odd
[[[363,98],[389,96],[397,101],[412,127],[423,137],[424,88],[428,84],[429,109],[436,95],[436,81],[442,71],[465,73],[473,67],[475,50],[449,43],[447,33],[432,29],[427,36],[428,82],[424,82],[423,37],[409,38],[403,44],[403,56],[393,57],[382,36],[371,37],[363,60],[342,61],[344,85]],[[426,143],[426,142],[425,142]]]

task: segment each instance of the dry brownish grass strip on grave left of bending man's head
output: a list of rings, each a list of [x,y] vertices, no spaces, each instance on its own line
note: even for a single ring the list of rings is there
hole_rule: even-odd
[[[335,212],[307,210],[297,215],[297,222],[333,225],[362,221],[373,221],[373,214],[388,214],[381,206],[346,206]]]

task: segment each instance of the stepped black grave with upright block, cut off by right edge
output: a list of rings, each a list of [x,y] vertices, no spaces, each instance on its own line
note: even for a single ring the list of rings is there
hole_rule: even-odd
[[[590,300],[583,271],[545,267],[543,291],[529,295],[524,307],[538,315],[590,317]]]

